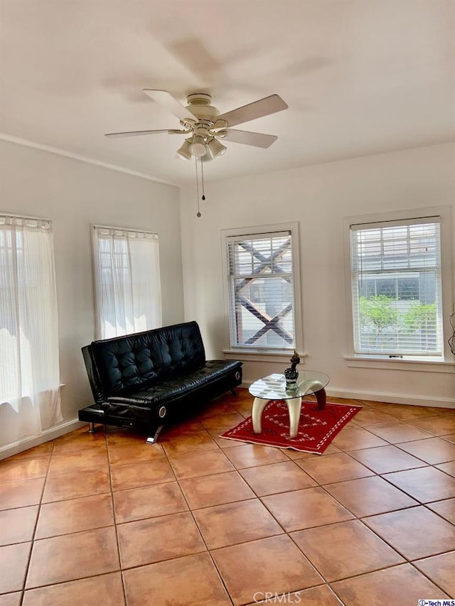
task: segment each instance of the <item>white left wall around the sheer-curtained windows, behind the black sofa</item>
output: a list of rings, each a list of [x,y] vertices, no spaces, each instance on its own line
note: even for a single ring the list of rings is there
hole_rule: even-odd
[[[80,352],[95,338],[89,226],[158,233],[163,323],[181,322],[178,188],[6,141],[0,167],[0,211],[53,221],[62,407],[71,421],[93,401]]]

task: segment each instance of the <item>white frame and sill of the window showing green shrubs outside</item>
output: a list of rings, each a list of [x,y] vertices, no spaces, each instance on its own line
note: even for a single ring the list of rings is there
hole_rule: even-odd
[[[353,332],[353,291],[352,271],[350,265],[350,226],[352,224],[369,224],[375,222],[402,221],[412,222],[423,217],[440,217],[440,247],[441,247],[441,307],[442,307],[442,331],[443,331],[443,354],[439,356],[405,356],[403,358],[390,358],[388,355],[356,354],[354,348]],[[450,337],[449,316],[451,313],[453,296],[453,274],[452,274],[452,220],[450,206],[434,206],[423,208],[412,208],[409,210],[397,210],[392,212],[380,212],[369,215],[355,215],[344,217],[344,261],[345,261],[345,291],[346,291],[346,343],[347,354],[344,359],[348,367],[378,368],[378,369],[400,369],[400,370],[424,370],[429,372],[454,372],[455,357],[451,354],[448,340]],[[451,369],[450,369],[451,367]]]

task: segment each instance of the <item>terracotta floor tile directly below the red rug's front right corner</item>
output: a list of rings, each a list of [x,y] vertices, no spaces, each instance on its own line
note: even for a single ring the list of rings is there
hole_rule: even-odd
[[[297,461],[297,465],[314,477],[319,484],[373,475],[371,470],[350,458],[346,453],[301,459]]]

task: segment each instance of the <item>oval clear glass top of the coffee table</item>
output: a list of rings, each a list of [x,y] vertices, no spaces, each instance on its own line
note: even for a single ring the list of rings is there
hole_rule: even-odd
[[[287,400],[316,394],[323,389],[330,379],[323,372],[314,370],[299,370],[299,378],[295,387],[287,388],[284,374],[269,374],[250,385],[250,394],[263,400]]]

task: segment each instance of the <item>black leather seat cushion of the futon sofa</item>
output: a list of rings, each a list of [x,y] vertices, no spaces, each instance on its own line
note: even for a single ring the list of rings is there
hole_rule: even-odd
[[[241,366],[241,362],[237,361],[210,360],[205,366],[182,377],[154,384],[145,382],[123,389],[117,394],[108,396],[106,402],[144,407],[166,404],[168,401],[176,401],[180,397],[188,396],[191,391],[196,393],[201,386],[216,382],[220,377],[235,372],[235,369],[240,369]]]

